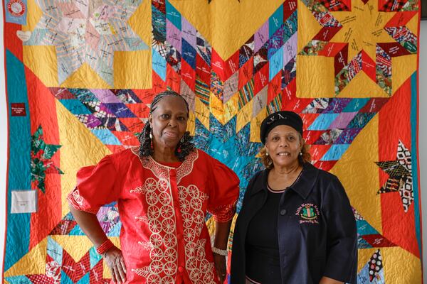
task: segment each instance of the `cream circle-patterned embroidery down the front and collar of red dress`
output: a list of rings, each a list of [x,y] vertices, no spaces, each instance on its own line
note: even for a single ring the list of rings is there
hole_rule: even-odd
[[[138,152],[132,151],[136,155]],[[181,178],[191,173],[194,161],[199,152],[194,151],[176,168],[176,183],[178,185],[179,209],[183,221],[183,238],[185,267],[189,278],[194,284],[215,284],[214,263],[206,259],[206,239],[199,239],[204,228],[205,201],[209,198],[196,185],[184,187],[179,185]],[[147,283],[174,283],[172,276],[176,275],[178,253],[176,246],[175,209],[169,173],[172,168],[161,165],[151,157],[140,159],[144,168],[152,171],[156,178],[147,178],[142,187],[136,187],[130,192],[142,194],[148,204],[146,216],[135,217],[145,222],[151,231],[149,241],[139,242],[144,249],[149,249],[151,263],[144,268],[132,269],[138,275],[147,279]]]

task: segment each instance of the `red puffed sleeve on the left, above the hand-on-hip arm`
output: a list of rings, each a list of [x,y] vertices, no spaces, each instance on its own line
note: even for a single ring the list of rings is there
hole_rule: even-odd
[[[78,170],[77,185],[68,195],[68,202],[78,210],[96,214],[102,205],[118,200],[117,171],[109,155],[97,165]]]

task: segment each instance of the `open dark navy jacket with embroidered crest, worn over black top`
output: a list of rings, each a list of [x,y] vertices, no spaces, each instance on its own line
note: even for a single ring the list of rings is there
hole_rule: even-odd
[[[267,199],[268,171],[256,173],[246,189],[233,235],[231,284],[245,283],[246,232]],[[280,197],[278,240],[282,284],[317,284],[323,276],[357,282],[356,221],[335,175],[305,163]]]

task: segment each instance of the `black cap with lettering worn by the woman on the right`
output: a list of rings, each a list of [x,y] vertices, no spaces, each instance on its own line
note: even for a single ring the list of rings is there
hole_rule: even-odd
[[[261,123],[260,138],[263,144],[265,144],[265,138],[267,138],[271,129],[278,125],[291,126],[293,129],[300,132],[302,136],[301,116],[293,111],[277,111],[274,114],[270,114],[269,116],[265,117]]]

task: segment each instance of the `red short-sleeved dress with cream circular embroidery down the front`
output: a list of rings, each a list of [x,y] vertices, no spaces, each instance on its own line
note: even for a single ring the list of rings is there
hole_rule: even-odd
[[[177,168],[139,158],[138,148],[107,155],[78,171],[68,195],[75,209],[96,213],[116,201],[127,283],[218,283],[206,211],[233,218],[239,180],[203,151]]]

